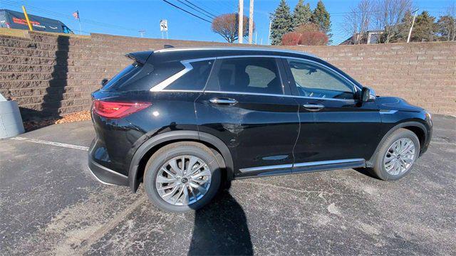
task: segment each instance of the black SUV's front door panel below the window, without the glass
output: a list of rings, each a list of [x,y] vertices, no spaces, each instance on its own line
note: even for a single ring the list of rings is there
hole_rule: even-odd
[[[380,114],[374,102],[321,100],[315,112],[313,161],[370,159],[378,144]]]

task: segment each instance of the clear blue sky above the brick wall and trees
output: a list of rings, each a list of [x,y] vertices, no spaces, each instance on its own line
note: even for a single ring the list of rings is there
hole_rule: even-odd
[[[192,13],[206,18],[207,16],[197,13],[181,2],[185,0],[167,0],[177,6],[192,11]],[[239,0],[188,0],[192,4],[214,15],[233,13],[237,11]],[[287,0],[291,11],[298,0]],[[318,0],[305,0],[311,9],[314,9]],[[326,10],[331,14],[333,44],[338,44],[348,38],[344,32],[344,16],[358,1],[346,0],[323,0]],[[79,11],[83,34],[106,33],[120,36],[140,36],[139,31],[147,38],[162,38],[160,32],[160,20],[168,21],[168,38],[197,41],[223,42],[222,36],[212,32],[211,23],[186,14],[176,9],[163,0],[0,0],[0,9],[21,11],[21,5],[27,7],[28,14],[55,18],[79,33],[78,21],[71,16],[74,11]],[[268,43],[269,13],[274,12],[279,0],[255,0],[254,22],[256,32],[254,41]],[[413,5],[421,11],[429,11],[432,16],[445,15],[449,6],[455,5],[455,0],[414,0]],[[249,13],[249,0],[244,0],[244,15]],[[245,42],[245,41],[244,41]]]

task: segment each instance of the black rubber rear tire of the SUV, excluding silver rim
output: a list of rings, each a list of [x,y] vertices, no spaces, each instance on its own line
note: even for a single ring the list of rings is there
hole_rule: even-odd
[[[180,155],[198,157],[202,161],[206,162],[211,171],[211,183],[207,192],[198,201],[187,206],[175,206],[171,203],[167,203],[158,194],[157,186],[155,183],[158,170],[161,168],[161,166],[167,161],[170,161],[170,159]],[[202,208],[207,203],[209,203],[212,198],[214,198],[220,186],[220,173],[220,164],[217,161],[217,156],[207,146],[204,146],[203,144],[199,144],[197,142],[176,142],[163,146],[150,157],[145,166],[143,182],[147,197],[155,206],[157,206],[157,208],[174,213],[185,213]]]

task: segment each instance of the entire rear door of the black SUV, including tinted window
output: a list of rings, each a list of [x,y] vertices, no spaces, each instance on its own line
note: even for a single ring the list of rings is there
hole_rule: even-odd
[[[234,59],[216,60],[206,90],[195,101],[199,132],[228,146],[237,177],[291,172],[298,105],[283,95],[276,59]]]

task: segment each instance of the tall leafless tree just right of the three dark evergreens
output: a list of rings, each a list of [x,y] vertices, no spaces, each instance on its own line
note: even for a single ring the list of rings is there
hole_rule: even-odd
[[[366,32],[371,26],[373,2],[371,0],[361,0],[358,5],[351,7],[351,10],[344,17],[346,33],[353,36],[354,44],[363,43]]]

